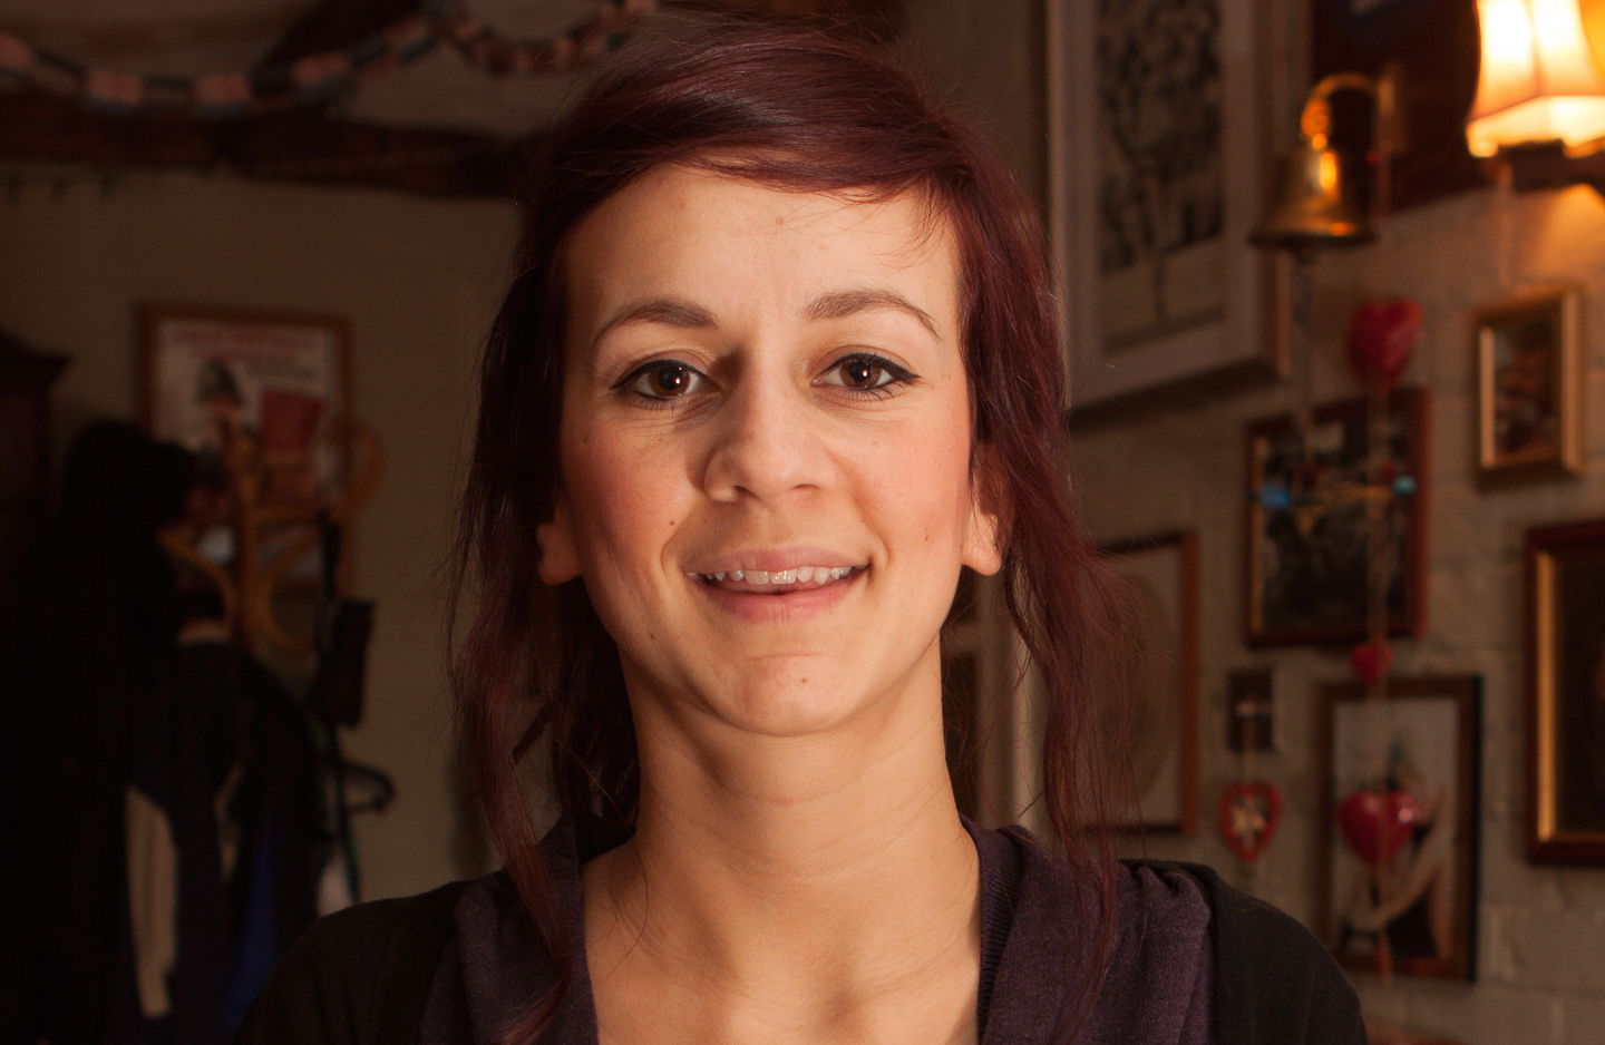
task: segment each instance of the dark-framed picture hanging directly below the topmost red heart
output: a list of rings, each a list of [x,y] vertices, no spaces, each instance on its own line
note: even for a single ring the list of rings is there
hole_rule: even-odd
[[[1367,504],[1384,501],[1390,636],[1424,626],[1427,560],[1427,393],[1398,388],[1382,424],[1388,486],[1369,485],[1366,400],[1249,425],[1249,645],[1347,644],[1366,637]]]

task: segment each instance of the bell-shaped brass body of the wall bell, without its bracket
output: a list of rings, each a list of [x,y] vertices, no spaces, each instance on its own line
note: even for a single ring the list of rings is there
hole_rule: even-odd
[[[1276,202],[1249,241],[1257,247],[1314,250],[1371,242],[1371,220],[1355,201],[1342,157],[1308,138],[1282,157]]]

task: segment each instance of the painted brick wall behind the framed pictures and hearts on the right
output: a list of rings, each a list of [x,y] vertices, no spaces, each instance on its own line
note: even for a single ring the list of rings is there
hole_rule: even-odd
[[[1022,181],[1040,185],[1040,5],[910,6],[926,69],[1002,138]],[[1480,493],[1472,310],[1554,283],[1581,284],[1584,294],[1586,475]],[[1358,393],[1340,363],[1340,337],[1353,305],[1379,295],[1409,295],[1425,308],[1404,380],[1430,390],[1433,411],[1427,634],[1396,644],[1395,668],[1483,676],[1480,970],[1477,984],[1400,978],[1392,995],[1372,976],[1353,979],[1367,1011],[1472,1045],[1595,1045],[1605,1027],[1605,868],[1538,867],[1523,856],[1522,541],[1534,525],[1605,517],[1605,201],[1581,188],[1522,197],[1485,189],[1396,215],[1379,244],[1323,258],[1313,284],[1316,401]],[[1350,674],[1342,652],[1250,652],[1241,624],[1244,427],[1290,403],[1282,384],[1117,414],[1075,433],[1075,482],[1099,539],[1181,527],[1201,533],[1201,832],[1156,838],[1146,852],[1213,864],[1311,921],[1321,785],[1316,687]],[[1215,798],[1237,775],[1225,745],[1225,676],[1252,665],[1279,671],[1281,746],[1262,756],[1258,769],[1278,782],[1287,812],[1254,875],[1244,876],[1231,870],[1234,857],[1212,823]]]

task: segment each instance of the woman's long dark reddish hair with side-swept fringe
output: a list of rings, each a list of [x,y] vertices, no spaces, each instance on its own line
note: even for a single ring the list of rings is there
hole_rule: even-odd
[[[799,193],[921,191],[952,225],[973,430],[992,448],[1006,506],[1005,602],[1048,693],[1045,809],[1071,860],[1098,884],[1101,954],[1112,864],[1107,843],[1088,851],[1085,825],[1103,822],[1101,799],[1077,782],[1101,779],[1083,759],[1088,650],[1106,642],[1104,615],[1071,506],[1059,331],[1034,209],[971,128],[908,75],[852,42],[772,22],[721,19],[628,48],[578,101],[522,196],[518,274],[480,374],[461,546],[478,615],[456,682],[478,793],[523,905],[551,954],[568,954],[515,775],[533,743],[547,745],[563,811],[626,828],[636,815],[636,738],[616,647],[579,581],[541,583],[534,533],[560,482],[565,236],[661,164]],[[533,1039],[567,982],[510,1039]]]

